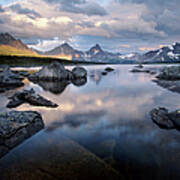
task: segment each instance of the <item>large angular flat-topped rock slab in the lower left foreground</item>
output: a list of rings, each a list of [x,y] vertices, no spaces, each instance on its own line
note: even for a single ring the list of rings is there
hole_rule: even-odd
[[[34,111],[11,111],[0,114],[0,157],[44,127]]]

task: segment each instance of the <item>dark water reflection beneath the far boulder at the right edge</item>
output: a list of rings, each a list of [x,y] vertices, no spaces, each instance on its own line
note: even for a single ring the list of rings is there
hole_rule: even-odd
[[[167,80],[156,79],[156,80],[153,80],[153,82],[155,82],[157,85],[159,85],[169,91],[180,93],[180,80],[167,81]]]

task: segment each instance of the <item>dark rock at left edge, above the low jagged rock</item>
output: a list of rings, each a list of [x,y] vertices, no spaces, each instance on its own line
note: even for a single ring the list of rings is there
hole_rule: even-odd
[[[23,86],[23,79],[22,76],[13,73],[8,66],[5,67],[0,73],[0,92]]]

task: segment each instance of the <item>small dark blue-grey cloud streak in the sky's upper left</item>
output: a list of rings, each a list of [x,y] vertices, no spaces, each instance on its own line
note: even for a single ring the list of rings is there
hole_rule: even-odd
[[[28,9],[28,8],[22,8],[20,4],[13,4],[9,8],[18,14],[24,14],[29,17],[41,17],[41,15],[37,13],[36,11],[32,9]]]

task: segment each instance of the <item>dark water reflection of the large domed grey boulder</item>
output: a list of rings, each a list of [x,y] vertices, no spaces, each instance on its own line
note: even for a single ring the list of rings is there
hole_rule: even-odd
[[[34,82],[41,86],[45,91],[49,91],[53,94],[61,94],[66,87],[70,84],[70,81],[55,81],[55,82],[45,82],[45,81],[37,81]]]

